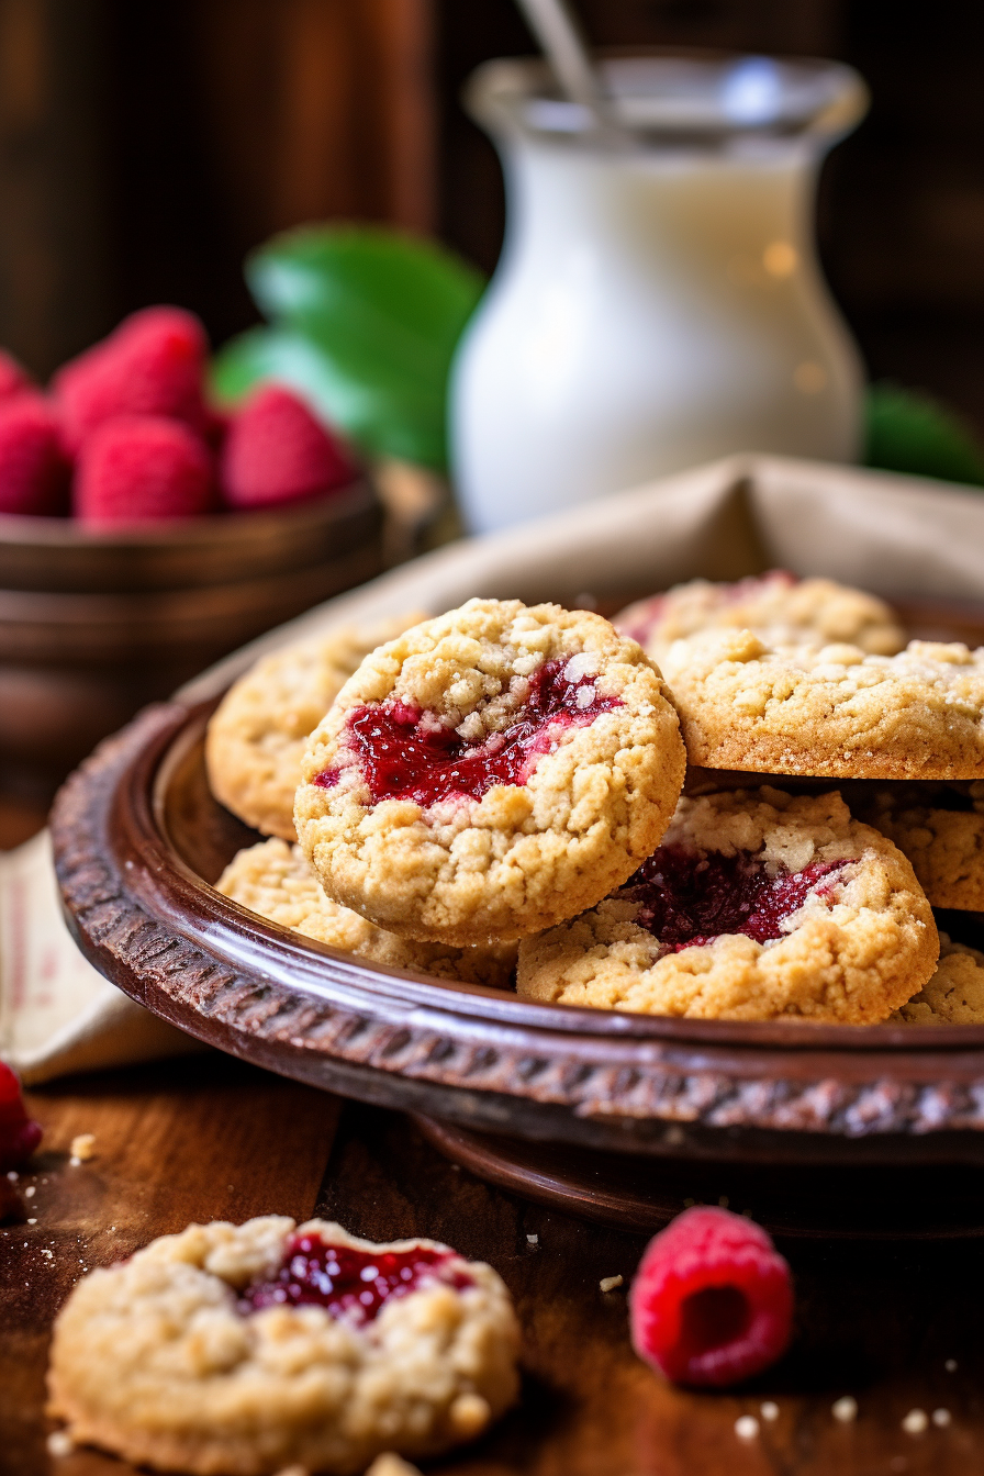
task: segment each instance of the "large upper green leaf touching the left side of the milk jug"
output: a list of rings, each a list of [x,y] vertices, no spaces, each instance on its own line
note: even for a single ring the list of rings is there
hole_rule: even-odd
[[[444,466],[447,375],[478,272],[391,230],[317,226],[254,252],[246,280],[279,329],[323,356],[323,403],[339,425],[369,450]]]

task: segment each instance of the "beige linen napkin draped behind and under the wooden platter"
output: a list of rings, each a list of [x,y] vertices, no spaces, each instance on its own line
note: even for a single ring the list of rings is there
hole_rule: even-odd
[[[984,599],[984,494],[732,456],[413,559],[251,642],[177,697],[214,697],[260,654],[350,621],[437,614],[472,595],[628,599],[698,574],[738,579],[775,567],[888,596]],[[58,914],[46,841],[30,846],[0,858],[0,1055],[40,1080],[189,1048],[80,958]],[[16,890],[25,886],[27,906]]]

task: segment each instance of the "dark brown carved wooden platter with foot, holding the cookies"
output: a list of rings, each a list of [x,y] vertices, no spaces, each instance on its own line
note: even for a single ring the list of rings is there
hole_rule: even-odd
[[[922,611],[919,626],[943,635],[959,621]],[[975,630],[984,618],[965,614],[960,636]],[[438,1119],[431,1137],[448,1154],[596,1218],[639,1228],[668,1218],[674,1162],[769,1168],[776,1182],[826,1166],[860,1170],[857,1213],[825,1212],[822,1191],[786,1196],[786,1232],[984,1232],[984,1029],[537,1005],[301,940],[209,886],[255,840],[208,793],[212,706],[149,708],[83,765],[53,810],[69,924],[134,999],[280,1075]],[[968,1166],[949,1204],[932,1179],[941,1163]],[[904,1170],[906,1213],[891,1175],[865,1166],[894,1166],[895,1185]]]

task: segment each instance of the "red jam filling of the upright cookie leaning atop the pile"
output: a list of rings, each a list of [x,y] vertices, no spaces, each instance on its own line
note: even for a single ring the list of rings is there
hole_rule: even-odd
[[[478,800],[494,784],[525,784],[537,760],[556,748],[559,729],[583,728],[621,707],[621,698],[599,695],[595,676],[565,676],[568,664],[544,661],[530,677],[530,695],[518,720],[481,742],[428,723],[420,708],[392,698],[353,708],[347,722],[350,744],[373,804],[416,800],[426,807],[453,797]],[[338,778],[339,770],[332,768],[314,784],[330,790]]]

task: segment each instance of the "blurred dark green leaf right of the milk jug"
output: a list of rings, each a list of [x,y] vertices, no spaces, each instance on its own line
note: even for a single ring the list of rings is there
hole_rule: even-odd
[[[929,396],[875,384],[866,410],[869,466],[984,487],[984,450],[974,432]]]

